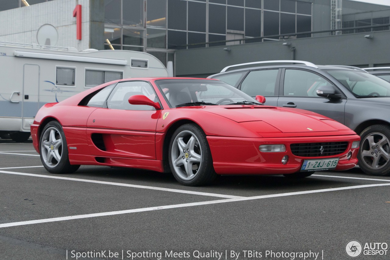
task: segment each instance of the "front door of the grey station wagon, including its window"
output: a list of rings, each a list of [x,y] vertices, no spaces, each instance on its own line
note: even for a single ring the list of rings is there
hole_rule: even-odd
[[[317,88],[324,85],[333,85],[337,89],[328,79],[312,71],[285,68],[280,83],[278,107],[310,110],[344,124],[346,98],[329,99],[316,94]]]

